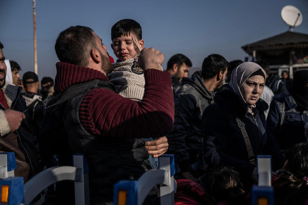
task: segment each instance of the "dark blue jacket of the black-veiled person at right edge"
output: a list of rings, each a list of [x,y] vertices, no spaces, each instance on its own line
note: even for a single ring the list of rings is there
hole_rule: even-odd
[[[282,126],[280,126],[283,102],[285,103],[285,115]],[[307,122],[308,111],[301,109],[292,95],[274,96],[266,119],[267,134],[277,140],[280,149],[288,149],[296,143],[306,141],[304,125]]]

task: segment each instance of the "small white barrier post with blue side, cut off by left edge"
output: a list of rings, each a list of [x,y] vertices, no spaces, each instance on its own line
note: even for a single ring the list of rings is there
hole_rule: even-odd
[[[0,153],[0,179],[14,176],[14,170],[17,169],[14,152]]]

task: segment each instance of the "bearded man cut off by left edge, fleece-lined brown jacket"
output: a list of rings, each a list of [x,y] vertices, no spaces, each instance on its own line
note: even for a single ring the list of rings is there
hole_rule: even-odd
[[[21,87],[6,83],[6,64],[0,42],[0,150],[14,152],[17,170],[15,176],[22,176],[26,183],[41,171],[30,129],[30,117],[26,110]],[[14,102],[14,103],[13,103]]]

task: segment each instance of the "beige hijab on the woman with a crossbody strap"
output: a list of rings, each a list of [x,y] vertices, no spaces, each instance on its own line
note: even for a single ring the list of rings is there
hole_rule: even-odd
[[[229,85],[236,94],[241,96],[242,100],[246,104],[247,102],[245,101],[241,93],[241,86],[244,84],[244,82],[249,78],[251,74],[260,69],[264,73],[264,76],[266,76],[263,68],[261,68],[261,66],[259,66],[257,63],[254,62],[243,62],[232,71]],[[248,107],[248,112],[253,115],[252,108],[256,107],[256,105],[255,104],[251,106],[247,105],[247,107]]]

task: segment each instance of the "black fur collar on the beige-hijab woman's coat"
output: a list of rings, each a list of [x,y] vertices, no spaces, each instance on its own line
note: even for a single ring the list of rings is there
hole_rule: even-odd
[[[222,110],[230,117],[242,118],[248,111],[247,104],[243,102],[240,96],[238,96],[232,88],[225,84],[221,86],[218,92],[214,96],[214,102],[216,102]],[[256,103],[256,108],[253,108],[253,112],[263,112],[268,109],[267,103],[259,99]]]

